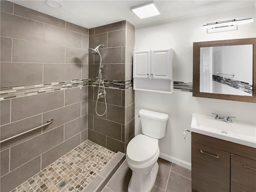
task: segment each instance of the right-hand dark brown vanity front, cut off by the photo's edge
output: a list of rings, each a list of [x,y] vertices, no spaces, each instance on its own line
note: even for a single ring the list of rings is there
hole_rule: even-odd
[[[230,154],[231,184],[240,183],[256,191],[256,161]],[[234,184],[233,184],[234,185]]]

